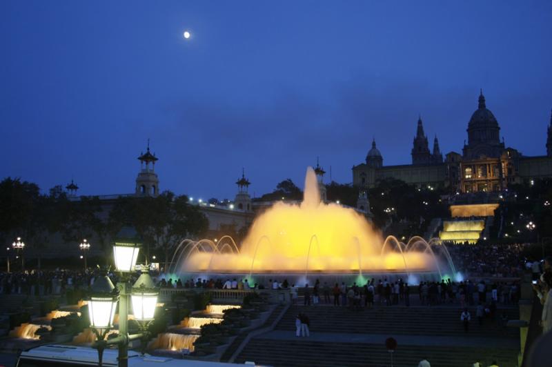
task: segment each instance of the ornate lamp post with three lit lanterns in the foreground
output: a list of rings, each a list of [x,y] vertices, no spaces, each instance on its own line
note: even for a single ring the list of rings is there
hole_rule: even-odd
[[[88,310],[90,312],[90,324],[95,330],[98,340],[94,347],[98,349],[99,366],[101,366],[101,356],[103,349],[109,345],[117,345],[119,348],[119,367],[128,366],[128,343],[135,339],[143,339],[142,347],[148,339],[148,326],[153,321],[155,306],[157,305],[157,296],[159,292],[155,289],[155,285],[149,274],[144,273],[135,282],[134,286],[130,284],[130,275],[135,269],[136,260],[140,244],[132,240],[115,241],[113,246],[113,255],[115,257],[116,270],[121,273],[121,279],[117,282],[117,288],[113,286],[107,278],[108,286],[101,286],[102,292],[95,293],[95,297],[90,297]],[[103,279],[103,278],[102,278]],[[111,284],[111,286],[109,286]],[[94,284],[94,286],[96,283]],[[114,293],[116,289],[117,293]],[[94,287],[92,288],[94,290]],[[114,296],[115,295],[115,296]],[[117,297],[119,299],[119,336],[109,340],[103,340],[109,328],[112,328],[112,315],[108,322],[108,310],[113,310],[117,305]],[[128,334],[128,299],[132,298],[132,308],[134,310],[135,319],[139,322],[141,333]],[[93,303],[97,302],[98,306]],[[103,304],[100,304],[103,302]],[[110,308],[111,307],[111,308]],[[102,314],[102,315],[100,315]]]

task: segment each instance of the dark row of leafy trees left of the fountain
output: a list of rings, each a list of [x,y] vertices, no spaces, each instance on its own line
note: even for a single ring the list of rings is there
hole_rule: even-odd
[[[59,233],[63,241],[77,244],[95,238],[94,246],[110,251],[110,241],[131,227],[144,243],[146,259],[150,249],[162,251],[165,262],[178,241],[197,237],[208,229],[207,218],[186,195],[170,191],[158,197],[119,197],[103,201],[99,197],[67,197],[61,186],[42,194],[39,186],[20,179],[0,182],[0,240],[10,244],[22,237],[37,254]]]

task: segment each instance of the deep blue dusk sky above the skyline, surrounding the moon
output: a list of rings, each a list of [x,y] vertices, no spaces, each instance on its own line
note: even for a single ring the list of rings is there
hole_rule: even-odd
[[[186,41],[184,30],[193,37]],[[352,180],[375,137],[411,162],[417,116],[461,152],[483,88],[506,146],[543,155],[552,1],[0,2],[0,177],[229,197],[320,157]],[[329,179],[329,177],[328,177]]]

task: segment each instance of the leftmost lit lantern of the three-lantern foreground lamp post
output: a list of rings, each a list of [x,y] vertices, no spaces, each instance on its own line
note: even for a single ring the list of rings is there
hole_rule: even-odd
[[[96,279],[92,285],[92,295],[88,300],[88,314],[92,328],[99,330],[112,328],[115,308],[117,308],[117,294],[113,290],[115,286],[107,275]]]

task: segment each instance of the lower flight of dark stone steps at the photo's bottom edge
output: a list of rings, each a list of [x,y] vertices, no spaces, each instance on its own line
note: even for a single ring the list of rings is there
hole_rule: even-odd
[[[422,359],[431,366],[468,367],[475,361],[490,366],[517,366],[517,350],[511,348],[470,348],[451,346],[397,346],[393,366],[413,367]],[[308,339],[253,339],[236,359],[237,363],[255,361],[269,366],[390,366],[391,356],[381,344],[333,343]]]

